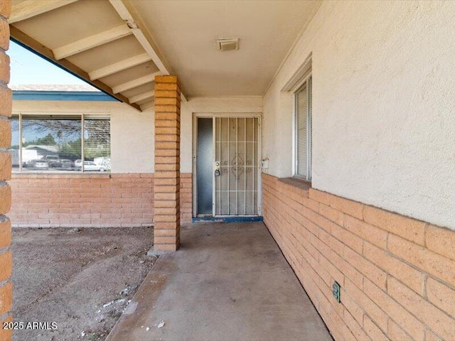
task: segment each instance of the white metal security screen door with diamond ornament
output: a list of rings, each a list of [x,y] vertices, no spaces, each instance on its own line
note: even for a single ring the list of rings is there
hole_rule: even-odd
[[[215,215],[258,215],[259,119],[215,117],[214,132]]]

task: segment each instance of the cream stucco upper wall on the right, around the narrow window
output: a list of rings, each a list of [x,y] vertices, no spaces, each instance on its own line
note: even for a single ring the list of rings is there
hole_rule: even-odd
[[[312,186],[455,229],[455,3],[326,1],[264,96],[267,173],[292,175],[292,97],[312,53]]]

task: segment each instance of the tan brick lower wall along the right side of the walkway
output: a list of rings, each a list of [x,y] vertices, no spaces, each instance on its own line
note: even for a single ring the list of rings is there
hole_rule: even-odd
[[[455,340],[454,231],[271,175],[262,184],[264,222],[336,340]]]

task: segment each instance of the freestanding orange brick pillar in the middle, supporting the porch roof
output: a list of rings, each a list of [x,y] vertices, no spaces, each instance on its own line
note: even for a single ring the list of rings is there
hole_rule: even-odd
[[[154,249],[180,245],[180,87],[176,76],[155,77]]]

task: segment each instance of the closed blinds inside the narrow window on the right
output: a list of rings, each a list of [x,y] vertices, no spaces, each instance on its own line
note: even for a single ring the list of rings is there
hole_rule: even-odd
[[[307,82],[296,92],[296,173],[308,178],[309,98]]]

